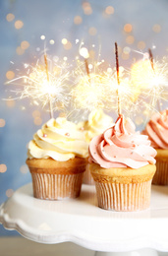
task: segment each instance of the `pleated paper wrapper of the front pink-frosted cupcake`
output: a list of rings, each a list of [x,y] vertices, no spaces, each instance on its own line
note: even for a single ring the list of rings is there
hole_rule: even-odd
[[[150,204],[151,180],[141,183],[95,182],[98,206],[105,210],[133,212]]]

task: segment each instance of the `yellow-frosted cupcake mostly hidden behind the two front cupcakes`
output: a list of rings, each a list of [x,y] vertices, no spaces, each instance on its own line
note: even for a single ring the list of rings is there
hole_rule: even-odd
[[[111,127],[112,124],[113,119],[111,116],[105,114],[102,109],[94,109],[88,115],[88,120],[80,122],[78,127],[84,131],[85,141],[89,143],[94,136],[101,134],[105,129]],[[94,180],[88,170],[88,164],[84,171],[83,183],[94,185]]]

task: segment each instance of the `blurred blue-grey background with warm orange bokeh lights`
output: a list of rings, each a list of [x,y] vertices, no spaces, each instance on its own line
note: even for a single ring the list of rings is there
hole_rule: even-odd
[[[167,12],[167,0],[0,1],[0,204],[30,182],[28,141],[48,119],[48,113],[28,99],[4,100],[9,96],[5,83],[23,75],[24,63],[34,63],[44,45],[52,58],[70,65],[82,42],[90,56],[103,60],[106,67],[115,65],[115,41],[120,65],[128,70],[148,48],[157,58],[167,56]],[[142,116],[133,119],[141,130]],[[12,234],[17,232],[0,225],[1,236]]]

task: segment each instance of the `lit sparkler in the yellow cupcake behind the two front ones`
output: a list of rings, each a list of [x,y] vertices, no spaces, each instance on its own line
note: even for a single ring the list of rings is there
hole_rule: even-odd
[[[74,71],[75,87],[71,92],[74,108],[86,111],[95,108],[111,110],[113,100],[109,95],[111,95],[112,88],[104,83],[105,79],[99,69],[99,63],[88,64],[89,54],[84,47],[80,49],[80,54],[84,57],[84,62],[79,60]],[[90,65],[91,71],[89,69]]]

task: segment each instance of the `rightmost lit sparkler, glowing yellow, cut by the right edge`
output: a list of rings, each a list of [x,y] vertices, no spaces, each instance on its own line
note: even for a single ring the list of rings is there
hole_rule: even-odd
[[[154,61],[151,54],[149,57],[135,63],[131,70],[133,101],[147,112],[153,110],[159,100],[166,100],[168,86],[167,59]]]

